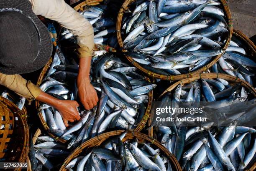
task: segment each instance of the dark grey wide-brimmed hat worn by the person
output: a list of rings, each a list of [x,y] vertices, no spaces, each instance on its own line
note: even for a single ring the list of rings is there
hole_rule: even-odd
[[[46,26],[28,0],[0,1],[0,73],[30,73],[42,68],[52,53]]]

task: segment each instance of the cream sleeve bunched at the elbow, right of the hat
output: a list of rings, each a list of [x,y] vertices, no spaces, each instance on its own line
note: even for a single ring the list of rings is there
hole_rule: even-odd
[[[80,58],[92,55],[94,48],[93,27],[88,20],[71,8],[64,0],[31,0],[33,12],[55,20],[77,37]]]

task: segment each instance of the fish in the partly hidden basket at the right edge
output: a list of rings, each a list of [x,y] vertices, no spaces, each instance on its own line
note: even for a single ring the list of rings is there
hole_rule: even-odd
[[[212,72],[227,73],[253,85],[256,63],[248,57],[249,52],[243,48],[244,45],[244,42],[233,36],[225,53],[212,66]]]

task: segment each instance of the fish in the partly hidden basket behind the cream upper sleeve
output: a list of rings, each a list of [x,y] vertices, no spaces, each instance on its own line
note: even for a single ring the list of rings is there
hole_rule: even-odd
[[[85,6],[84,11],[79,12],[93,26],[94,43],[109,45],[118,48],[117,37],[115,34],[115,20],[108,17],[107,5]],[[107,17],[105,17],[107,16]],[[75,36],[68,29],[63,28],[60,40],[75,39]]]

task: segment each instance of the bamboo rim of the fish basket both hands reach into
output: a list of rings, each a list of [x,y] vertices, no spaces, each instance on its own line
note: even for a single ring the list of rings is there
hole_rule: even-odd
[[[115,52],[115,49],[114,48],[110,48],[109,46],[107,45],[97,45],[95,44],[95,48],[94,48],[95,51],[97,50],[107,50],[107,51],[111,51],[111,52]],[[49,60],[49,62],[44,66],[43,70],[41,71],[40,75],[39,75],[39,78],[37,80],[37,86],[40,86],[41,83],[42,83],[42,80],[44,79],[44,76],[45,74],[47,73],[49,67],[51,66],[51,63],[52,63],[52,58]],[[151,81],[150,78],[146,77],[146,80]],[[148,93],[148,106],[146,108],[146,111],[145,111],[145,114],[143,116],[143,118],[141,119],[141,122],[138,124],[138,126],[134,129],[134,131],[136,132],[139,132],[141,131],[144,126],[146,125],[146,122],[148,121],[148,118],[150,116],[150,111],[151,111],[151,104],[152,104],[152,101],[153,101],[153,91],[150,91]],[[40,106],[40,102],[39,101],[36,101],[36,108],[39,109],[39,106]],[[40,121],[41,123],[43,124],[43,127],[44,129],[47,131],[49,129],[49,127],[47,126],[47,123],[44,121],[44,118],[42,116],[42,113],[40,110],[38,110],[38,116],[40,118]],[[48,132],[49,133],[49,132]],[[61,143],[65,143],[66,140],[62,139],[62,138],[59,138],[59,137],[56,137],[54,136],[53,134],[49,133],[49,135],[53,138],[55,138],[57,141],[60,141]]]

